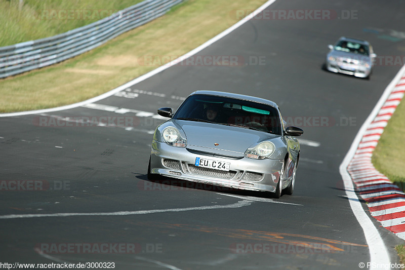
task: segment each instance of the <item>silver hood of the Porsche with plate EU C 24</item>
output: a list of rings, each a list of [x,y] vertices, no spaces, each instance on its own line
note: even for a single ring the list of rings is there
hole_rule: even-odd
[[[270,133],[220,124],[183,120],[176,120],[176,124],[186,134],[187,148],[219,155],[243,156],[253,144],[277,137]]]

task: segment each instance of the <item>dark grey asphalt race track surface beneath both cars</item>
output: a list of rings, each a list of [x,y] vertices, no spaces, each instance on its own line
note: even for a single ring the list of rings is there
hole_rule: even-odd
[[[130,87],[136,98],[111,96],[96,102],[116,108],[78,107],[0,119],[0,180],[35,180],[45,189],[0,191],[1,215],[17,215],[0,221],[0,261],[114,262],[116,269],[358,269],[360,262],[367,264],[369,248],[345,198],[339,165],[401,66],[378,65],[371,80],[329,73],[321,67],[327,45],[341,35],[370,41],[379,56],[403,55],[405,36],[398,37],[392,30],[405,31],[405,2],[276,1],[270,8],[334,10],[338,15],[349,10],[357,11],[357,17],[251,20],[198,53],[242,56],[247,65],[173,66]],[[259,57],[264,64],[247,60]],[[193,90],[267,98],[280,106],[285,118],[296,121],[329,119],[327,126],[301,125],[302,139],[320,145],[301,146],[293,196],[276,200],[256,192],[210,186],[185,189],[181,181],[172,185],[147,181],[150,133],[162,120],[115,110],[155,114],[158,107],[175,109],[181,103],[179,97]],[[129,129],[38,125],[39,119],[50,119],[51,114],[134,117],[136,124]],[[352,120],[349,125],[348,119]],[[398,263],[394,247],[403,241],[372,221],[390,261]],[[93,248],[120,244],[129,250],[63,253],[61,244],[67,243],[90,243]],[[37,248],[47,247],[44,244],[59,250],[40,254]],[[299,248],[303,246],[307,248]]]

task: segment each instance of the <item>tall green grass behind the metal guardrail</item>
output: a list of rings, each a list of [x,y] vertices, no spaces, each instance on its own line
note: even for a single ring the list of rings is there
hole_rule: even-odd
[[[142,0],[0,0],[0,47],[87,25]]]

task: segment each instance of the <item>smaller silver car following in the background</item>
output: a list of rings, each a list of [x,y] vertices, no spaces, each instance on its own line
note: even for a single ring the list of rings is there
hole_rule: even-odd
[[[331,50],[326,59],[326,68],[332,72],[369,78],[377,55],[367,41],[341,37],[328,46]]]

